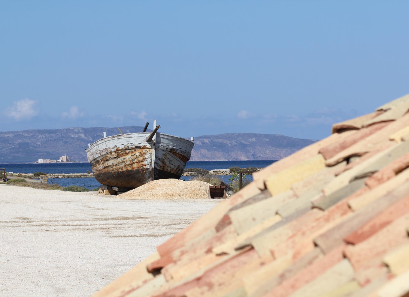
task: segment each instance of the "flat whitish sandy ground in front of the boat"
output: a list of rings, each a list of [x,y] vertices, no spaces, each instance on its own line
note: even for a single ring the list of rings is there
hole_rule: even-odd
[[[0,296],[90,296],[219,202],[0,184]]]

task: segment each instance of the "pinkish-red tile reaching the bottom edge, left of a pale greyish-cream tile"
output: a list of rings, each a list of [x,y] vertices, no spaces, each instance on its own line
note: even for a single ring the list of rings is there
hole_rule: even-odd
[[[295,292],[299,288],[308,284],[310,281],[335,266],[335,264],[341,262],[344,257],[342,250],[345,246],[339,246],[337,249],[332,250],[325,257],[313,262],[311,265],[303,270],[300,270],[297,274],[283,281],[279,286],[274,287],[268,292],[265,297],[286,297]]]

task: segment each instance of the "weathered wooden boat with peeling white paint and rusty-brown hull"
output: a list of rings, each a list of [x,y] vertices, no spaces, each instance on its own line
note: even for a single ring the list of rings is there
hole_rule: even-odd
[[[154,121],[154,126],[156,122]],[[106,136],[88,144],[88,161],[103,185],[133,189],[156,179],[180,179],[193,149],[191,140],[157,132]]]

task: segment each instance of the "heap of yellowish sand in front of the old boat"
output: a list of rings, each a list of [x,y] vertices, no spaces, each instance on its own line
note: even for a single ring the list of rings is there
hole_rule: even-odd
[[[158,179],[117,197],[122,199],[181,200],[208,199],[209,183],[204,181],[182,181],[180,179]]]

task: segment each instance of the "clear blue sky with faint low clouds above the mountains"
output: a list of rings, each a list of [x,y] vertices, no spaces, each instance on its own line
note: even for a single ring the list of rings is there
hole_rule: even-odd
[[[0,131],[155,118],[183,137],[321,139],[409,93],[408,10],[373,0],[0,0]]]

